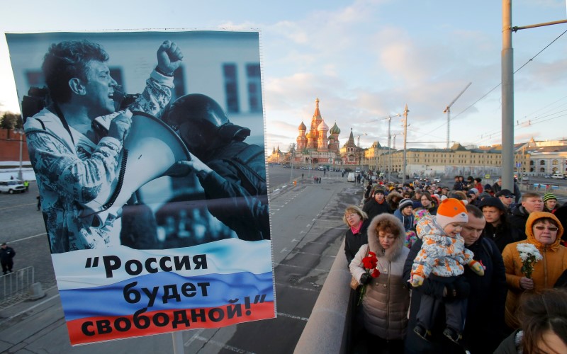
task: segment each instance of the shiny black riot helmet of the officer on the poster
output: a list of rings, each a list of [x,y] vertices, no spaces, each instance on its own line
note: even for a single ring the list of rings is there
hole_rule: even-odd
[[[233,140],[241,142],[250,135],[248,128],[232,124],[223,108],[201,93],[177,98],[164,112],[162,120],[179,134],[189,151],[199,159]]]

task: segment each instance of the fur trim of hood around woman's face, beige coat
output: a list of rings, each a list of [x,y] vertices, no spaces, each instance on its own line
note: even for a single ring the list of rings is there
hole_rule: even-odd
[[[376,231],[378,224],[388,224],[393,231],[395,241],[390,249],[384,250],[378,241],[378,232]],[[368,227],[368,245],[370,251],[376,253],[378,257],[385,256],[390,262],[393,262],[395,258],[400,255],[404,239],[405,231],[402,222],[391,214],[382,213],[374,217]]]

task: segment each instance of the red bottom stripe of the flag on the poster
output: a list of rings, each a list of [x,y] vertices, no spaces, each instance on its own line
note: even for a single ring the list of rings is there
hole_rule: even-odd
[[[212,309],[223,309],[225,314],[223,320],[221,321],[211,321],[209,319],[209,313]],[[130,316],[110,316],[110,317],[89,317],[86,319],[75,319],[72,321],[67,321],[67,329],[69,330],[69,338],[71,340],[72,346],[77,346],[79,344],[86,344],[86,343],[97,343],[102,341],[113,341],[115,339],[123,339],[123,338],[132,338],[132,337],[140,337],[140,336],[152,336],[154,334],[160,333],[169,333],[175,331],[186,331],[189,329],[210,329],[210,328],[218,328],[218,327],[225,327],[230,326],[232,324],[239,324],[242,322],[248,321],[258,321],[261,319],[273,319],[275,317],[275,309],[274,309],[274,302],[264,302],[262,304],[250,304],[249,309],[245,309],[242,306],[242,316],[233,316],[232,319],[227,318],[226,314],[226,307],[214,307],[214,308],[203,308],[205,311],[206,321],[201,321],[201,319],[197,319],[196,322],[191,321],[191,309],[186,309],[187,318],[189,319],[190,326],[187,327],[184,324],[179,324],[179,326],[174,329],[172,326],[173,321],[173,313],[179,312],[181,310],[168,310],[168,311],[155,311],[155,312],[144,312],[141,314],[142,316],[148,316],[150,319],[154,316],[154,314],[163,313],[169,316],[169,323],[167,326],[156,326],[152,321],[150,326],[146,329],[137,329],[133,325],[133,317],[134,315]],[[247,314],[249,312],[249,314]],[[213,316],[215,314],[213,313]],[[113,328],[114,321],[120,317],[126,318],[130,320],[132,326],[128,331],[118,331]],[[110,321],[112,331],[110,333],[98,333],[96,328],[96,322],[107,320]],[[89,331],[94,331],[96,334],[93,336],[87,336],[82,331],[82,326],[86,322],[91,322],[90,326],[87,326]]]

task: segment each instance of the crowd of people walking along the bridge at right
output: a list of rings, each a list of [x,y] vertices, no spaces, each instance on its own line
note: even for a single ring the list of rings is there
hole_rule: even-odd
[[[347,207],[352,353],[567,353],[567,203],[481,182]]]

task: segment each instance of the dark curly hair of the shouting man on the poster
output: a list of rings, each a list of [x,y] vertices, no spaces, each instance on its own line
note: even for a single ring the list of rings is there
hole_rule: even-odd
[[[86,80],[86,65],[91,60],[107,62],[108,54],[99,44],[88,40],[68,40],[50,45],[41,69],[53,101],[69,101],[69,80],[74,77]]]

